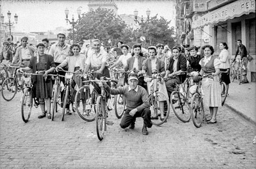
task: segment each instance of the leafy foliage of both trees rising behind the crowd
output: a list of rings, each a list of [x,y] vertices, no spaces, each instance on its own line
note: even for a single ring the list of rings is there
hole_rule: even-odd
[[[101,9],[83,13],[79,23],[75,27],[76,41],[100,39],[105,46],[114,46],[121,40],[130,47],[140,41],[141,36],[146,37],[146,42],[142,45],[148,47],[158,43],[164,45],[174,45],[174,28],[169,28],[170,21],[163,17],[153,16],[149,20],[140,23],[140,28],[133,30],[116,16],[113,10]],[[72,33],[69,37],[72,38]],[[108,40],[111,43],[108,43]]]

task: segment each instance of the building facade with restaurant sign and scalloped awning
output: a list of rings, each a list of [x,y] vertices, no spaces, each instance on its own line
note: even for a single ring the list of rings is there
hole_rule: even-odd
[[[248,64],[247,78],[256,81],[255,67],[255,0],[210,0],[207,2],[190,0],[183,4],[181,44],[195,46],[212,45],[215,55],[220,54],[219,44],[226,42],[231,58],[237,49],[237,40],[241,39],[253,61]],[[199,10],[198,10],[199,8]],[[189,28],[191,26],[191,29]],[[180,33],[180,32],[179,32]],[[193,36],[191,36],[193,35]]]

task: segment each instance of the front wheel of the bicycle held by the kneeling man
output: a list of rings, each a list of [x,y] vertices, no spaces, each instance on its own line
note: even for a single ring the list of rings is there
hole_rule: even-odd
[[[102,99],[102,96],[97,98],[96,102],[96,131],[99,140],[102,140],[104,137],[104,132],[106,130],[106,114],[105,114],[105,105]]]

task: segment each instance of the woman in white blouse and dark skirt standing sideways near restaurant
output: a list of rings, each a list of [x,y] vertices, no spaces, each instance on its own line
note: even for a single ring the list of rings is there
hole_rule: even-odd
[[[220,55],[219,60],[221,62],[220,64],[220,71],[226,72],[229,70],[230,66],[230,55],[228,53],[228,45],[225,42],[220,43]],[[221,73],[221,81],[225,82],[227,85],[227,94],[228,94],[228,87],[230,83],[229,73]]]

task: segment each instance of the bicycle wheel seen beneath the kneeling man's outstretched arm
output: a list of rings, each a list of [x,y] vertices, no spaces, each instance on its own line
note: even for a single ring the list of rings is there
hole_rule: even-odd
[[[120,119],[125,112],[124,95],[115,95],[114,104],[116,117]]]

